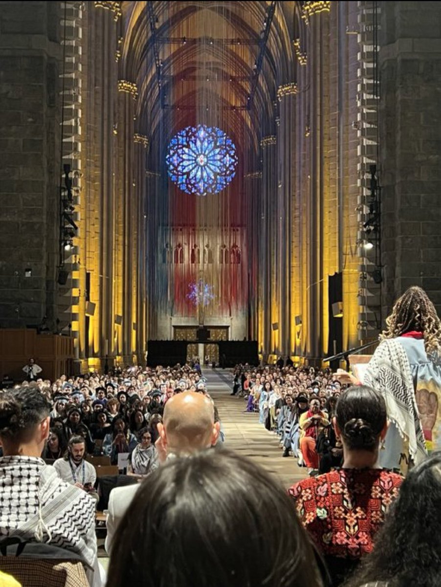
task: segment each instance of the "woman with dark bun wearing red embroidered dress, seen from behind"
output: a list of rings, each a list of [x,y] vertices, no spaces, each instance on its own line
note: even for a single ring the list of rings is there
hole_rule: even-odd
[[[325,555],[333,585],[340,585],[361,556],[372,551],[402,477],[377,465],[387,430],[386,406],[379,393],[365,386],[346,390],[338,399],[336,419],[343,467],[300,481],[289,493],[304,527]]]

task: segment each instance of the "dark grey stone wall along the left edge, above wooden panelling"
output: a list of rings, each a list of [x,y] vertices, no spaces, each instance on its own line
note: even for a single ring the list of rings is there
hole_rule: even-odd
[[[0,327],[55,326],[58,2],[0,2]],[[25,276],[25,269],[32,276]]]

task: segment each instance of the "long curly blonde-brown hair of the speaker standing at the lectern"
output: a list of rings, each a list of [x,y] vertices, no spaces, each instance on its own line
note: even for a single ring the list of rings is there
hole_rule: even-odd
[[[386,325],[380,340],[417,330],[424,335],[426,352],[441,356],[441,321],[435,306],[422,288],[414,285],[398,298],[391,314],[386,318]]]

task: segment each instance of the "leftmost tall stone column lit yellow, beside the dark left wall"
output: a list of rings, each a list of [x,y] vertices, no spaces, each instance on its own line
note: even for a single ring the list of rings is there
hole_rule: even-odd
[[[113,11],[98,2],[87,6],[87,34],[84,53],[84,143],[87,205],[85,208],[85,243],[83,259],[90,275],[89,300],[94,303],[89,316],[89,365],[100,367],[106,354],[113,356],[113,282],[114,282],[114,205],[113,179],[114,111],[117,93],[116,22]],[[80,316],[81,319],[81,316]],[[83,328],[86,328],[83,320]],[[81,335],[83,338],[83,335]]]

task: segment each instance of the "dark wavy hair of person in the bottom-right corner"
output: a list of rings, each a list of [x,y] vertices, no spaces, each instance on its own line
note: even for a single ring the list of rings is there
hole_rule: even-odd
[[[441,452],[411,469],[375,537],[372,554],[345,583],[438,587],[441,583]]]

